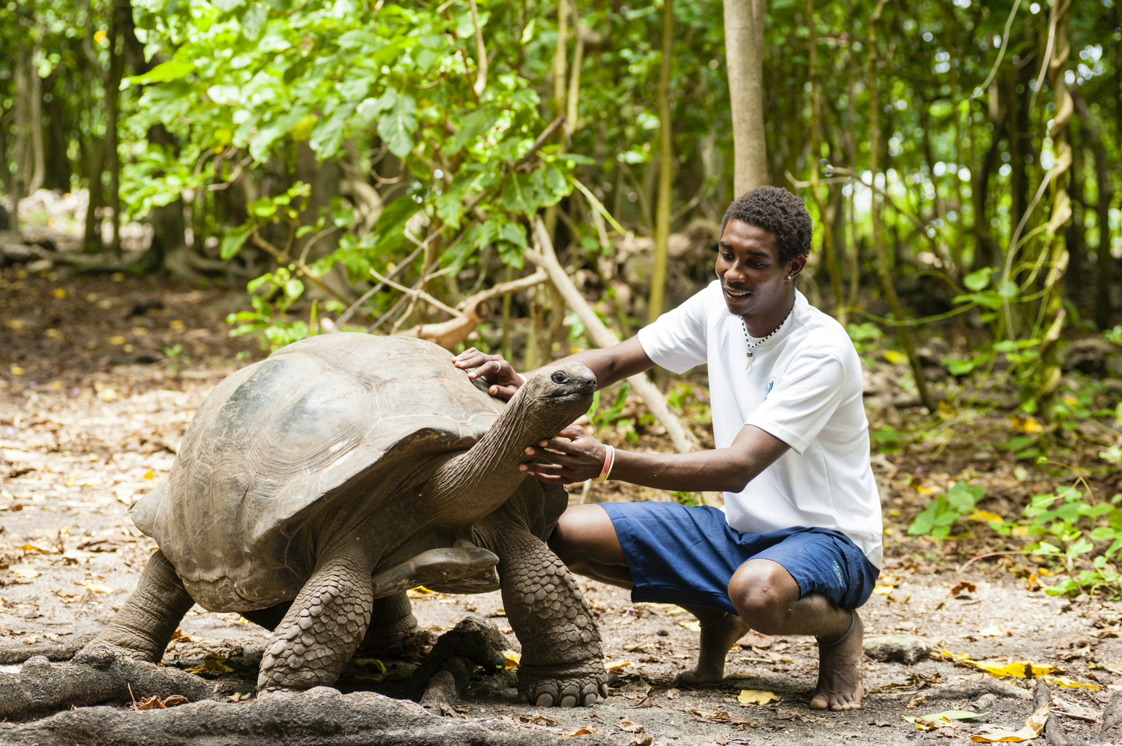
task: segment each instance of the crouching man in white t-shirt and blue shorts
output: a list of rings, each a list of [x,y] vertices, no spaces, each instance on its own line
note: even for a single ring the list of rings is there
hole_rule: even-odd
[[[868,462],[861,360],[845,330],[795,289],[813,227],[802,202],[762,186],[725,213],[717,280],[613,348],[571,359],[603,388],[660,365],[709,366],[712,451],[613,451],[581,427],[528,449],[544,482],[611,479],[664,490],[723,490],[724,512],[677,503],[570,507],[550,546],[574,572],[672,602],[701,624],[697,666],[679,680],[720,681],[749,628],[813,635],[813,709],[861,706],[856,609],[881,563],[881,503]],[[509,397],[523,378],[498,356],[457,358]]]

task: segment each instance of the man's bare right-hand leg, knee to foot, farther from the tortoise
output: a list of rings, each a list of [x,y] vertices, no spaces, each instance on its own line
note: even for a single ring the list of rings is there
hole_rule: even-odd
[[[818,638],[818,687],[811,709],[861,707],[864,627],[856,611],[839,608],[818,593],[799,598],[799,583],[771,560],[742,564],[728,582],[728,597],[741,618],[760,633]]]

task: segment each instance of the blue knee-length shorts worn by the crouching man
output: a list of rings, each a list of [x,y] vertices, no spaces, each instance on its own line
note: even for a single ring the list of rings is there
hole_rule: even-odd
[[[736,614],[728,581],[748,560],[783,565],[801,596],[820,593],[856,609],[881,573],[848,536],[794,526],[766,534],[729,528],[717,508],[678,503],[600,503],[615,526],[635,588],[633,601],[700,606]]]

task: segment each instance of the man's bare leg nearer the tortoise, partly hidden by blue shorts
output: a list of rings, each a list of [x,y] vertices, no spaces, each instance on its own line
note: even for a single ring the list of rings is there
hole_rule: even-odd
[[[550,549],[577,574],[628,590],[634,587],[615,526],[599,505],[574,505],[561,514],[550,536]],[[720,681],[728,648],[747,634],[748,626],[718,609],[683,608],[701,624],[701,652],[693,671],[682,672],[675,682]]]

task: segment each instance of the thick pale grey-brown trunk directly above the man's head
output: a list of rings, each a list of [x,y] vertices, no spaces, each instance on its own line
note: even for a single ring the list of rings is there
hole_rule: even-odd
[[[763,57],[765,0],[726,0],[725,57],[733,108],[733,191],[739,196],[767,183]]]

